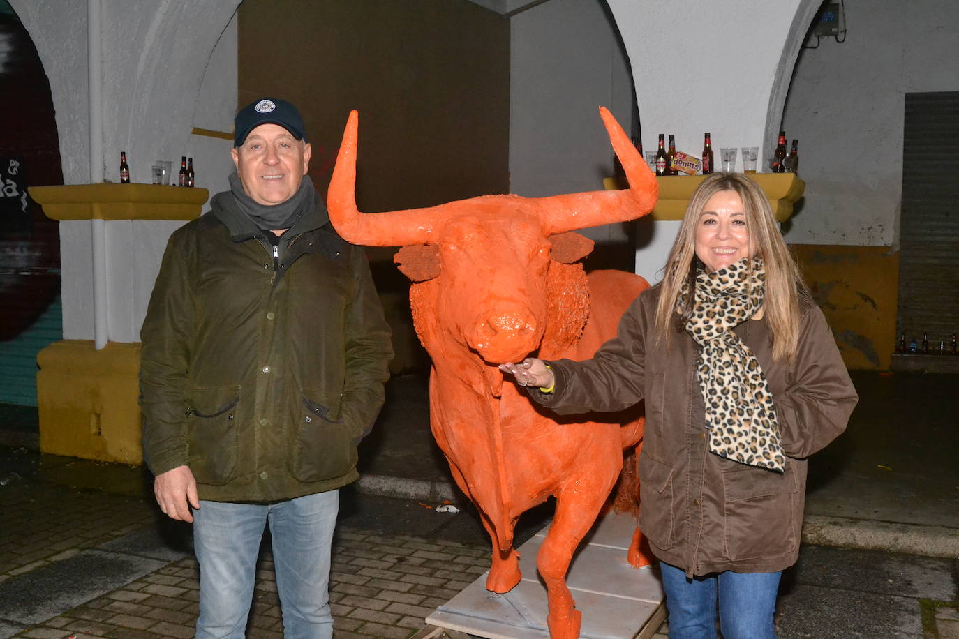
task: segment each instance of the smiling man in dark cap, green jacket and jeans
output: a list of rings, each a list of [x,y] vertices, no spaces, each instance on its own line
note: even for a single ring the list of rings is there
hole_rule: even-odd
[[[192,521],[197,636],[243,637],[269,522],[286,637],[331,637],[337,489],[392,352],[363,249],[340,240],[282,100],[234,123],[237,171],[167,245],[141,331],[143,448],[160,510]]]

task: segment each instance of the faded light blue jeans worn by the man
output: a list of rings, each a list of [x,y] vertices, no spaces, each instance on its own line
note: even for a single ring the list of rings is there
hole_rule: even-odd
[[[193,512],[199,561],[199,639],[243,639],[256,559],[269,522],[287,639],[330,639],[330,546],[339,491],[274,504],[200,501]]]

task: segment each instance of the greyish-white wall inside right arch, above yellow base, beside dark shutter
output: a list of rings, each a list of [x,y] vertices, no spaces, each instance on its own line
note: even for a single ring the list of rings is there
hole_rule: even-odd
[[[891,246],[902,184],[904,94],[959,90],[959,3],[846,3],[844,43],[796,64],[784,114],[799,139],[805,201],[786,240]]]

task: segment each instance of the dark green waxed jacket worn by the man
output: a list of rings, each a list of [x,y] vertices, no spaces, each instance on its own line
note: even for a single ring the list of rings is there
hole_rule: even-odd
[[[317,204],[274,259],[229,194],[211,206],[171,236],[140,333],[147,464],[189,466],[213,501],[356,480],[392,357],[363,249]]]

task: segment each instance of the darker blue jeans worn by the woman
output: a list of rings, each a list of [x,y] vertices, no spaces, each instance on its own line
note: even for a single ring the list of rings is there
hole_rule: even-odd
[[[686,578],[660,562],[669,611],[669,639],[715,639],[716,602],[723,639],[776,639],[773,613],[781,572],[735,573]]]

